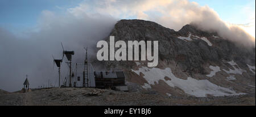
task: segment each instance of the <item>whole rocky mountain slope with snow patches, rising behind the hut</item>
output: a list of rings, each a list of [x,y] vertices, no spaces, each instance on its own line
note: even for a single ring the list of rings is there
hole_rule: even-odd
[[[242,47],[193,25],[176,32],[144,20],[120,20],[110,36],[115,41],[159,41],[154,68],[146,61],[100,62],[108,70],[125,71],[131,89],[196,97],[255,93],[255,47]]]

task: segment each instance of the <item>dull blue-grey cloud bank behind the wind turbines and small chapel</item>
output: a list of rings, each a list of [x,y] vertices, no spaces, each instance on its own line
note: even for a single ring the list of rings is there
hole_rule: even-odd
[[[56,14],[43,11],[36,30],[27,31],[27,38],[17,38],[14,34],[0,28],[0,89],[15,91],[23,88],[28,74],[31,88],[48,86],[48,80],[58,85],[57,67],[53,69],[54,57],[62,57],[64,49],[74,50],[73,62],[84,60],[83,47],[89,47],[88,54],[94,56],[99,40],[107,37],[117,19],[101,14]],[[67,60],[64,60],[67,61]],[[68,66],[62,63],[61,76],[67,76]]]

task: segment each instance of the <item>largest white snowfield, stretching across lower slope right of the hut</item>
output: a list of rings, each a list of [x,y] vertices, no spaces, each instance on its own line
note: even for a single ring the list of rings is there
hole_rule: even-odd
[[[143,73],[144,79],[147,80],[149,85],[158,84],[159,80],[165,81],[171,87],[178,87],[184,90],[185,93],[196,97],[206,97],[207,94],[212,96],[234,96],[245,93],[236,93],[234,90],[218,86],[210,83],[208,80],[196,80],[188,77],[187,80],[179,79],[171,71],[171,68],[161,70],[159,68],[141,67],[139,70],[131,70],[138,75]],[[169,77],[171,80],[165,80],[164,77]]]

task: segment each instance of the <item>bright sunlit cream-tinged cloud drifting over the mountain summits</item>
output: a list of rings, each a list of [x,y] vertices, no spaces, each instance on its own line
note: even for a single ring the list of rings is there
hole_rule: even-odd
[[[121,19],[151,20],[176,31],[185,24],[192,23],[204,31],[217,32],[220,36],[240,45],[255,46],[255,12],[254,20],[251,20],[252,22],[250,23],[253,25],[242,27],[241,25],[230,24],[221,20],[217,12],[209,6],[200,6],[196,2],[187,0],[104,0],[94,1],[90,5],[85,3],[85,5],[70,9],[71,12],[76,14],[81,14],[81,12],[87,12],[88,10]],[[251,12],[251,7],[243,7],[242,11]]]

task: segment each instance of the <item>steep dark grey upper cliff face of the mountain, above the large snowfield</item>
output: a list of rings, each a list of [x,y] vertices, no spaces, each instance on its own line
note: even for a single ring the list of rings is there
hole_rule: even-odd
[[[189,37],[189,35],[192,41],[178,38]],[[234,60],[240,66],[245,64],[255,66],[255,47],[250,49],[240,47],[222,37],[217,37],[217,33],[200,31],[192,25],[185,25],[176,32],[152,21],[120,20],[115,24],[110,36],[115,36],[115,41],[157,40],[159,41],[159,60],[167,62],[174,60],[184,72],[205,73],[203,68],[205,63],[221,65],[225,60]],[[201,40],[201,37],[207,38],[212,46]],[[109,37],[106,40],[109,40]],[[115,66],[116,63],[129,67],[127,64],[118,62],[114,62]]]

